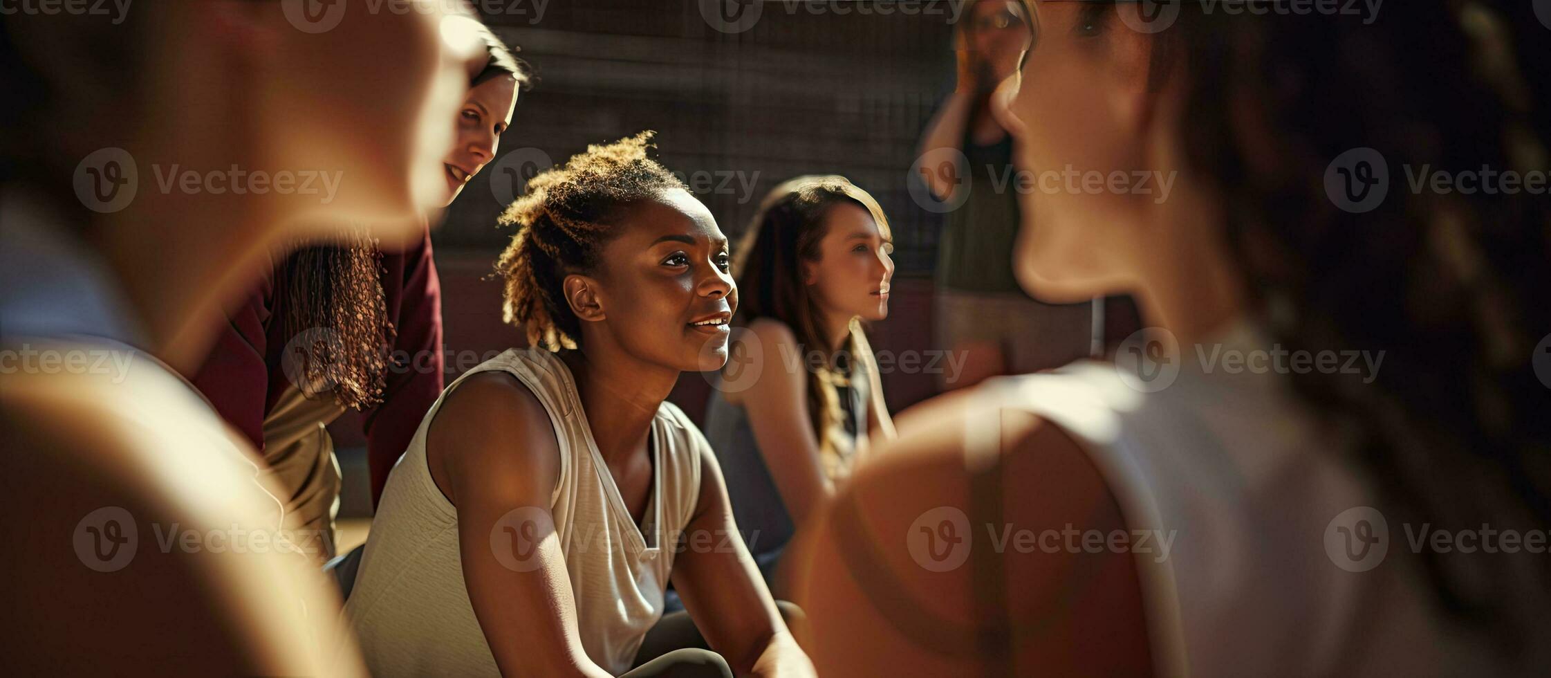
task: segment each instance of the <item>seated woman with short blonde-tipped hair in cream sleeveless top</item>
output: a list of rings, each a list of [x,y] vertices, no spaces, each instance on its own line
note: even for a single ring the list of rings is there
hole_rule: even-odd
[[[737,287],[650,140],[589,146],[501,217],[529,348],[453,382],[388,478],[347,605],[375,675],[811,675],[665,400],[727,360]],[[687,616],[659,625],[670,580]]]

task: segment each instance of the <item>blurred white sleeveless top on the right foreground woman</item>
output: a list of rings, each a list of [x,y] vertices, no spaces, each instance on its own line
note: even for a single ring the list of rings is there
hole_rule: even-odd
[[[1250,326],[1202,346],[1218,344],[1270,346]],[[1160,393],[1132,389],[1115,365],[1084,361],[988,380],[988,402],[974,408],[976,417],[1011,408],[1059,425],[1098,467],[1132,532],[1174,538],[1166,557],[1157,546],[1140,552],[1140,541],[1134,554],[1157,673],[1466,675],[1492,666],[1481,639],[1432,604],[1418,563],[1401,554],[1399,524],[1388,528],[1388,562],[1362,572],[1339,566],[1348,555],[1331,551],[1334,520],[1382,504],[1284,377],[1202,369],[1185,351]],[[996,430],[971,419],[965,433]],[[999,448],[982,442],[971,456]]]

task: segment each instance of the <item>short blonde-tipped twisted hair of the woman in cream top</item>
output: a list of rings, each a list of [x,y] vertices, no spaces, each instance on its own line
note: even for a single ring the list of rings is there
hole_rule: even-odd
[[[503,318],[530,346],[577,349],[582,321],[565,299],[566,275],[588,273],[616,231],[619,209],[668,189],[684,189],[667,168],[647,157],[655,132],[591,144],[565,164],[534,175],[526,194],[501,214],[516,225],[495,264],[506,281]]]

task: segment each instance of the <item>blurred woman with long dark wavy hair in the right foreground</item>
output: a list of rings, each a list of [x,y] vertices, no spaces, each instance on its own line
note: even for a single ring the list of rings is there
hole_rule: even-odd
[[[800,541],[820,672],[1545,672],[1551,203],[1402,183],[1546,171],[1543,26],[1207,8],[1021,8],[1019,163],[1179,180],[1028,200],[1019,276],[1134,292],[1151,335],[924,408],[853,476]]]

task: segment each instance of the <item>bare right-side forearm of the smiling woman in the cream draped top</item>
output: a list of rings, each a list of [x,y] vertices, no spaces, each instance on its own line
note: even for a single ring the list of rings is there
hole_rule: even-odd
[[[754,566],[727,503],[727,486],[710,445],[700,450],[700,501],[673,563],[673,588],[695,625],[737,675],[813,676]]]

